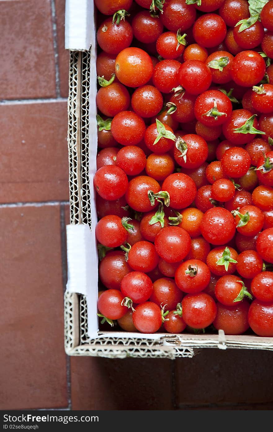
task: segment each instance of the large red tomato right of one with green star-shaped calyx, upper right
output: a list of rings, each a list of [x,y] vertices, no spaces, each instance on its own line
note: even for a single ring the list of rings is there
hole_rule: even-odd
[[[256,51],[239,52],[232,62],[233,81],[242,87],[251,87],[259,83],[266,70],[263,57]]]

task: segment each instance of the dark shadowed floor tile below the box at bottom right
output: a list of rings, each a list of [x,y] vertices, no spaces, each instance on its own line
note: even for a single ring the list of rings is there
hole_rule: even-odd
[[[178,405],[254,405],[273,408],[273,352],[202,349],[176,360]]]

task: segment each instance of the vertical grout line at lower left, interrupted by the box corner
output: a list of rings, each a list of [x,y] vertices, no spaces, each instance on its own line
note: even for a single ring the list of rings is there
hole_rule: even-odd
[[[66,223],[64,213],[64,203],[60,205],[60,238],[61,238],[61,260],[62,260],[62,275],[63,275],[63,294],[67,285],[67,240],[66,240]],[[66,356],[67,366],[67,395],[68,395],[68,410],[71,410],[71,373],[70,373],[70,357]]]

